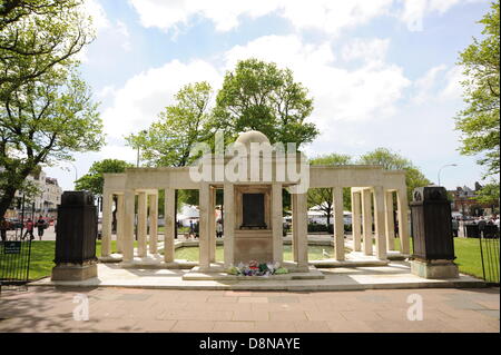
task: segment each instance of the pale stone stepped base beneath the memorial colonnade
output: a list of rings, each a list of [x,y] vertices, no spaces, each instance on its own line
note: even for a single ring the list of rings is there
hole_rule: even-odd
[[[479,287],[478,278],[460,275],[459,278],[426,279],[411,274],[409,263],[393,262],[387,266],[321,268],[324,279],[244,279],[244,280],[187,280],[189,269],[122,268],[119,264],[98,264],[98,277],[82,282],[51,282],[45,278],[33,286],[114,286],[170,289],[214,290],[357,290],[374,288]]]

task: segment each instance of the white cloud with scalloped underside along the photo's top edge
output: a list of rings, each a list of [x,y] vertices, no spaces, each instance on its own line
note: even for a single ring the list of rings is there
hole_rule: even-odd
[[[258,18],[276,12],[298,29],[318,29],[337,33],[344,27],[364,23],[386,13],[392,0],[129,0],[145,27],[176,30],[199,16],[214,22],[216,30],[228,31],[239,17]]]

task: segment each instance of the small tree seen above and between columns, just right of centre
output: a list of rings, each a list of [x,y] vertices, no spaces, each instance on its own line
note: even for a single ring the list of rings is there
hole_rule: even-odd
[[[352,157],[343,154],[330,154],[310,159],[310,165],[340,166],[352,164]],[[332,188],[308,189],[308,207],[318,206],[327,217],[327,226],[331,224],[331,213],[333,208]],[[343,208],[351,208],[350,188],[343,189]]]

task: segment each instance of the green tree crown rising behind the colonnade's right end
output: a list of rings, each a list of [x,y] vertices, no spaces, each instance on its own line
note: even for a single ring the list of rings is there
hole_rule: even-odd
[[[386,170],[405,170],[405,184],[407,185],[407,200],[412,200],[412,191],[416,187],[428,186],[429,179],[415,167],[411,160],[392,152],[387,148],[376,148],[360,157],[358,164],[381,165]]]

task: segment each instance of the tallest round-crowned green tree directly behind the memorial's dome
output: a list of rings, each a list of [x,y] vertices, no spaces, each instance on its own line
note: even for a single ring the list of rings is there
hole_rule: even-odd
[[[214,110],[218,127],[230,137],[245,130],[259,130],[272,144],[311,142],[318,131],[305,119],[313,99],[295,82],[289,69],[257,59],[238,61],[225,76]]]

